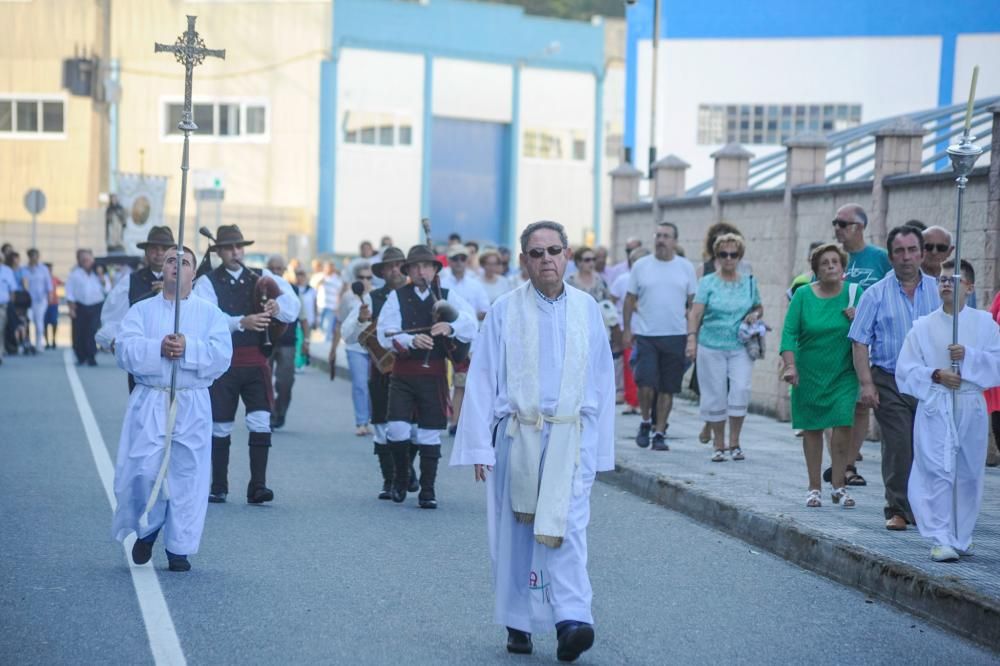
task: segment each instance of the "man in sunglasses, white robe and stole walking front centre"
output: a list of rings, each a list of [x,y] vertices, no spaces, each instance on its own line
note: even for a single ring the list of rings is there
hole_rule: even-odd
[[[507,649],[558,636],[574,661],[594,642],[587,575],[590,489],[614,469],[615,371],[597,302],[563,282],[562,225],[521,234],[530,282],[493,304],[477,338],[452,465],[486,481],[495,620]]]

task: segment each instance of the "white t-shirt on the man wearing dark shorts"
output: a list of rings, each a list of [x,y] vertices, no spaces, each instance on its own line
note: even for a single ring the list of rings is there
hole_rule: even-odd
[[[684,335],[687,301],[698,291],[694,265],[684,257],[660,261],[645,256],[632,266],[628,293],[638,298],[632,314],[635,335]]]

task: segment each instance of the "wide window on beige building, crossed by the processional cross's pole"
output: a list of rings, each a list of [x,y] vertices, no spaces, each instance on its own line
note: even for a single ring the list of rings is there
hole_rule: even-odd
[[[182,134],[177,125],[184,112],[182,102],[167,102],[164,118],[164,136]],[[198,126],[195,137],[225,140],[259,141],[267,137],[267,104],[243,100],[195,102],[191,105],[194,124]]]

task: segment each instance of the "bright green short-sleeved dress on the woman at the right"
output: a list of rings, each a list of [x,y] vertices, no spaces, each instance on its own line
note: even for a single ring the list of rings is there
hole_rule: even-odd
[[[854,304],[861,297],[856,287]],[[796,289],[785,315],[781,351],[795,354],[799,385],[792,388],[792,427],[822,430],[854,423],[858,377],[854,373],[851,322],[844,314],[850,299],[845,282],[840,294],[820,298],[811,286]]]

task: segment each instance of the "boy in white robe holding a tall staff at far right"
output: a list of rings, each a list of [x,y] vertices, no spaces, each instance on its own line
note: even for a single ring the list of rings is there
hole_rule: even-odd
[[[983,498],[989,414],[983,390],[1000,385],[1000,328],[988,312],[965,307],[975,289],[972,265],[946,262],[938,277],[942,306],[913,324],[896,364],[899,390],[917,400],[908,495],[917,528],[934,540],[931,559],[970,554]],[[958,289],[958,342],[952,343],[952,303]],[[958,361],[959,372],[951,362]],[[953,409],[958,392],[958,415]]]

